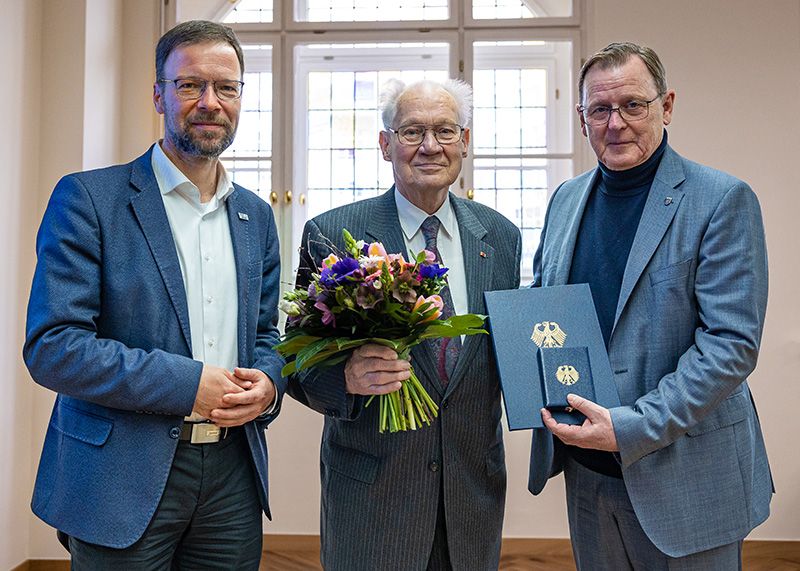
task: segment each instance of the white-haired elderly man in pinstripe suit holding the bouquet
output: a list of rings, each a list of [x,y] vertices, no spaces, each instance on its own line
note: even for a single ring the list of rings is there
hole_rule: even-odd
[[[485,313],[484,291],[518,287],[519,230],[448,191],[467,155],[471,99],[460,81],[390,82],[380,146],[395,185],[306,224],[298,284],[308,283],[331,244],[344,249],[344,227],[390,253],[437,250],[450,268],[446,290],[457,314]],[[486,335],[466,337],[446,363],[435,354],[439,345],[428,341],[411,353],[439,405],[439,417],[416,431],[379,434],[378,407],[364,406],[409,377],[409,362],[387,347],[366,345],[342,366],[290,380],[290,394],[325,415],[325,569],[497,569],[506,469],[490,343]]]

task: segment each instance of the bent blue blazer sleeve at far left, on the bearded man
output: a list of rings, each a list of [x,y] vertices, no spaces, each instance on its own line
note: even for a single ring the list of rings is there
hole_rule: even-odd
[[[160,349],[127,347],[99,333],[101,239],[83,181],[63,178],[37,236],[23,347],[31,376],[53,391],[106,407],[190,414],[202,363]]]

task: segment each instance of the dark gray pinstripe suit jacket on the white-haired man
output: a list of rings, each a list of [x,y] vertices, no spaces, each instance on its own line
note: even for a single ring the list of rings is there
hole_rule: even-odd
[[[450,201],[458,219],[469,311],[485,313],[483,292],[519,285],[521,238],[481,204]],[[330,253],[342,228],[356,239],[405,252],[393,190],[310,220],[298,283]],[[343,366],[290,379],[290,394],[325,415],[321,447],[322,564],[335,571],[424,569],[444,493],[454,569],[497,569],[506,489],[500,386],[488,335],[467,337],[445,390],[428,343],[412,349],[414,369],[439,417],[417,431],[379,434],[377,401],[345,394]]]

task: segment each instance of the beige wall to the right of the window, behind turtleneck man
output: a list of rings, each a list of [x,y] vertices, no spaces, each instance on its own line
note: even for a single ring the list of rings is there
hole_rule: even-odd
[[[677,91],[670,144],[746,180],[761,201],[770,295],[751,388],[777,494],[751,537],[800,540],[800,1],[603,0],[588,3],[587,54],[612,41],[649,45]]]

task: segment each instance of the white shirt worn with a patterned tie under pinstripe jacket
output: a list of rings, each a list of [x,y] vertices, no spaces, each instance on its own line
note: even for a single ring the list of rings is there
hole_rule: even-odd
[[[425,249],[425,236],[422,235],[420,226],[430,215],[414,206],[397,189],[394,191],[394,200],[397,204],[397,216],[403,229],[408,256],[411,256],[412,253],[418,254]],[[462,315],[469,311],[467,275],[464,270],[464,253],[461,249],[458,220],[449,198],[444,201],[439,210],[433,213],[433,216],[436,216],[441,222],[439,234],[436,237],[436,247],[442,257],[442,264],[448,268],[445,275],[450,286],[450,295],[453,298],[453,309],[456,315]]]

